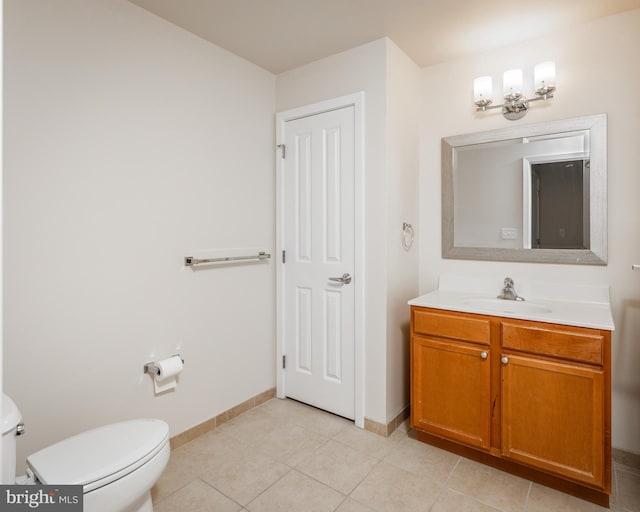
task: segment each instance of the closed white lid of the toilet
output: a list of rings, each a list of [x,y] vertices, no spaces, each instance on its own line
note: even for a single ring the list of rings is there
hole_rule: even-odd
[[[164,421],[123,421],[53,444],[27,457],[27,464],[43,484],[83,485],[86,493],[134,471],[168,439]]]

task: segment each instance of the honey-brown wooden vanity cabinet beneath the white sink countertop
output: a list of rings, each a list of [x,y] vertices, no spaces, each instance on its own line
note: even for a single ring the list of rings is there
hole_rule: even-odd
[[[608,506],[609,331],[412,306],[418,439]]]

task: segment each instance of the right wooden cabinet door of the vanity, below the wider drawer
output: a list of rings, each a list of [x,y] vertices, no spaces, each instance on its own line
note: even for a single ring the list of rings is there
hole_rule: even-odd
[[[502,455],[604,486],[604,372],[502,354]]]

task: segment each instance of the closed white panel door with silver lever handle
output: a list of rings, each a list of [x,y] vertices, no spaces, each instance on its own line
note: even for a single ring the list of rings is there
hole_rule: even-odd
[[[353,419],[354,107],[285,123],[285,394]]]

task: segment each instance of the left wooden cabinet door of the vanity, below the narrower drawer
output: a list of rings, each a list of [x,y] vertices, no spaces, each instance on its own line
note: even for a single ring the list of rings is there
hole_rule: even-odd
[[[489,347],[414,335],[411,421],[416,429],[488,450]]]

